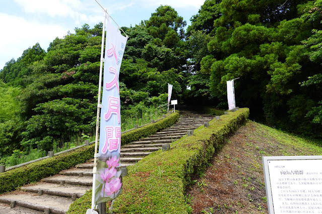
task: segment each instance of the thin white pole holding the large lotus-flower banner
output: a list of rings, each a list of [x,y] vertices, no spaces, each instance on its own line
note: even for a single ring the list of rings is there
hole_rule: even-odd
[[[98,131],[99,131],[99,116],[101,109],[101,87],[102,87],[102,73],[103,73],[103,54],[104,54],[104,39],[105,39],[105,22],[106,22],[106,9],[104,9],[104,22],[102,30],[102,47],[101,47],[101,62],[99,68],[99,83],[98,83],[98,99],[97,99],[97,117],[96,117],[96,133],[95,133],[95,154],[94,154],[94,167],[93,167],[93,188],[92,188],[92,209],[95,208],[95,185],[96,185],[96,172],[97,172],[97,145],[98,145]]]

